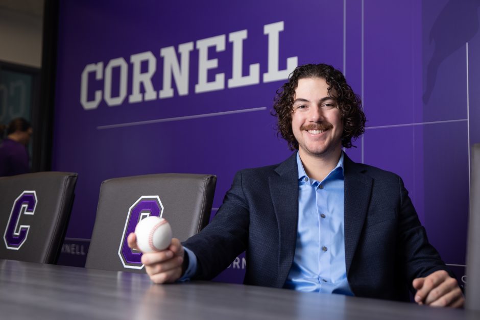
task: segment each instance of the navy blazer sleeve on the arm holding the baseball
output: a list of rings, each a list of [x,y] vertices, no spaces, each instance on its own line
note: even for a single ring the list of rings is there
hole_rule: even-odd
[[[239,171],[223,204],[212,221],[197,235],[182,244],[197,256],[197,272],[193,279],[211,279],[247,249],[249,206]]]

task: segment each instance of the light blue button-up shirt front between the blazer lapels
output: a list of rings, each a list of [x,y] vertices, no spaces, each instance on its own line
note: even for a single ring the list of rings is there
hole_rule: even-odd
[[[343,153],[325,179],[309,178],[297,153],[298,232],[284,287],[353,296],[345,267]]]

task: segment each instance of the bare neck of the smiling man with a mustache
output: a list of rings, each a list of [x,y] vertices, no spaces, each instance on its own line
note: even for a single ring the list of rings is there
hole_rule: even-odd
[[[322,181],[339,163],[342,148],[339,147],[331,153],[320,156],[308,154],[302,149],[300,149],[298,153],[308,177]]]

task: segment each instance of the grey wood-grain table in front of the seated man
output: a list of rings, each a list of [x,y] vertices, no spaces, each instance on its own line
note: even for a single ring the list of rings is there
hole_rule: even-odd
[[[410,303],[0,260],[0,317],[12,319],[480,319]]]

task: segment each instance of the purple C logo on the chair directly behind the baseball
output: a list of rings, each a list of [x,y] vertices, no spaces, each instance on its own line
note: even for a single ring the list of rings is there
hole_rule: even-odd
[[[132,250],[128,247],[127,237],[131,232],[135,231],[138,221],[150,215],[161,217],[163,213],[163,205],[158,195],[142,195],[130,207],[125,221],[125,227],[122,234],[120,247],[118,248],[118,256],[125,268],[141,269],[141,252]]]

